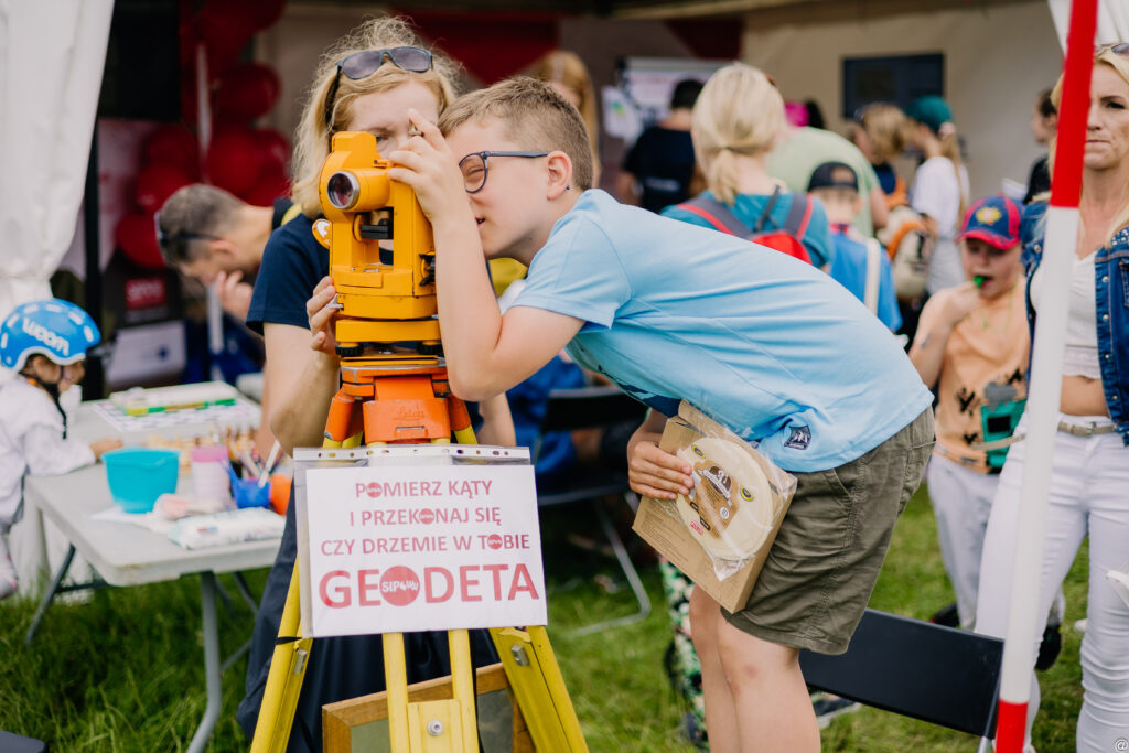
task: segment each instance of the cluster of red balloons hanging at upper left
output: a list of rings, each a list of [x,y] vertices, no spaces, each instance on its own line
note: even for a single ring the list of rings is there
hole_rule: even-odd
[[[266,207],[289,192],[286,137],[254,122],[278,102],[281,85],[270,65],[239,62],[251,37],[273,25],[286,0],[207,0],[181,23],[181,112],[184,124],[163,124],[145,143],[133,211],[114,231],[116,245],[135,264],[163,268],[154,213],[177,189],[205,181],[248,204]],[[212,132],[201,159],[196,125],[196,50],[208,68]]]

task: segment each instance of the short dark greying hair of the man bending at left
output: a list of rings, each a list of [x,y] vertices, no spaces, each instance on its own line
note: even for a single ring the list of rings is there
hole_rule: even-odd
[[[217,239],[245,202],[222,189],[193,183],[165,201],[154,218],[157,245],[169,266],[187,264],[207,255],[193,240]]]

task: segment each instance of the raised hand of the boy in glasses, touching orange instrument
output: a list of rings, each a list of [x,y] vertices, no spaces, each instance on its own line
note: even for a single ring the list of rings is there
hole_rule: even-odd
[[[388,177],[412,187],[432,225],[439,219],[473,225],[458,158],[450,154],[437,125],[414,110],[408,111],[408,119],[418,133],[402,149],[388,155],[396,164],[388,170]]]

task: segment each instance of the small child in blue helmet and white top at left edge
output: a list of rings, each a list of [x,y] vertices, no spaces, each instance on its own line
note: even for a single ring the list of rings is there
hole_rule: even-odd
[[[0,366],[16,371],[0,387],[0,599],[18,586],[8,531],[23,516],[24,475],[67,473],[122,446],[68,439],[59,402],[82,378],[86,351],[100,339],[89,314],[59,299],[17,306],[0,324]]]

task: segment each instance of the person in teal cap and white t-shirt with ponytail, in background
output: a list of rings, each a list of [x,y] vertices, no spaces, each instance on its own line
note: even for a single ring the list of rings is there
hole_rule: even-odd
[[[933,295],[964,282],[956,230],[969,203],[969,173],[961,161],[948,103],[934,95],[918,97],[905,108],[905,116],[910,120],[909,146],[925,156],[913,175],[910,207],[937,238],[926,281],[926,291]]]

